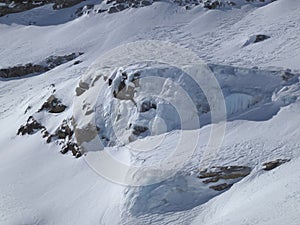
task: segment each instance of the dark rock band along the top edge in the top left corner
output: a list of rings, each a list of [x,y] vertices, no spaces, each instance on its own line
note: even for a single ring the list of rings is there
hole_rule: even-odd
[[[0,16],[23,12],[39,6],[54,3],[53,9],[63,9],[76,5],[84,0],[4,0],[5,5],[0,6]]]

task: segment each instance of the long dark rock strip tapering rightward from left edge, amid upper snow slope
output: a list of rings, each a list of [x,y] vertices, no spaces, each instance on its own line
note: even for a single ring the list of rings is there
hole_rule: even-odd
[[[0,77],[16,78],[35,73],[47,72],[61,64],[72,61],[83,53],[72,53],[64,56],[50,56],[39,64],[28,63],[26,65],[17,65],[14,67],[0,69]]]

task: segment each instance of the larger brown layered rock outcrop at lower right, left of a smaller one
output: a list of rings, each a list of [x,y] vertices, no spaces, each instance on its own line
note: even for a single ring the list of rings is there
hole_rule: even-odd
[[[198,178],[203,179],[204,184],[217,183],[209,188],[223,191],[230,188],[234,183],[240,181],[251,173],[247,166],[218,166],[204,169],[199,172]],[[226,182],[224,182],[226,181]]]

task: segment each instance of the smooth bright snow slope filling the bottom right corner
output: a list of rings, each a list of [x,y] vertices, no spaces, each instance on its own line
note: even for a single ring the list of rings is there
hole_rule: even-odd
[[[201,212],[193,224],[299,224],[299,174],[291,172],[299,165],[297,159],[240,182],[210,202],[210,211]]]

